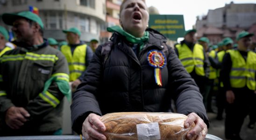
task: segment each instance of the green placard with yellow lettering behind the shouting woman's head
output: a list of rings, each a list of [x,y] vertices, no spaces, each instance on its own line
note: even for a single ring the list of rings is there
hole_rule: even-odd
[[[183,15],[149,15],[149,28],[153,28],[170,40],[184,37],[185,26]]]

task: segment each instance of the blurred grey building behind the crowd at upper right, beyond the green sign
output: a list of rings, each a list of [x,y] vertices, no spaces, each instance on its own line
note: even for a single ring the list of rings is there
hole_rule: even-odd
[[[206,36],[216,44],[224,37],[235,36],[242,30],[249,30],[256,23],[256,4],[235,4],[209,10],[206,16],[196,21],[198,38]]]

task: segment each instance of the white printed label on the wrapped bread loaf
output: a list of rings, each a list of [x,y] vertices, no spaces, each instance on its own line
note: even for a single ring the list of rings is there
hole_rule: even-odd
[[[136,125],[138,140],[160,140],[160,131],[158,123]]]

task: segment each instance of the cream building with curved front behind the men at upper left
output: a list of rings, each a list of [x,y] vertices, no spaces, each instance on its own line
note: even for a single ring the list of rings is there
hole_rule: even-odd
[[[66,38],[62,30],[71,27],[81,31],[80,39],[84,42],[99,39],[106,21],[106,0],[1,0],[0,14],[26,11],[29,6],[39,9],[45,26],[44,37],[58,41]],[[1,20],[0,25],[4,25]]]

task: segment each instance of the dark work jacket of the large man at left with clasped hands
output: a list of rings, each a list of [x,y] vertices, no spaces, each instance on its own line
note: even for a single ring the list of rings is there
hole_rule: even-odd
[[[47,42],[37,48],[22,42],[15,42],[15,44],[18,46],[16,49],[5,53],[5,56],[10,56],[14,60],[5,61],[7,59],[4,59],[4,56],[0,57],[0,76],[2,76],[0,91],[6,91],[7,94],[0,96],[0,136],[40,135],[55,132],[62,128],[64,95],[55,81],[50,84],[47,91],[60,101],[56,107],[43,100],[39,93],[44,90],[45,82],[53,74],[69,75],[67,60],[59,50],[50,47]],[[39,57],[31,57],[27,53],[33,53]],[[21,57],[20,55],[23,54],[26,56]],[[47,57],[41,55],[52,55],[55,60],[42,60],[40,58]],[[4,121],[7,109],[12,106],[23,107],[31,115],[21,129],[11,129]]]

